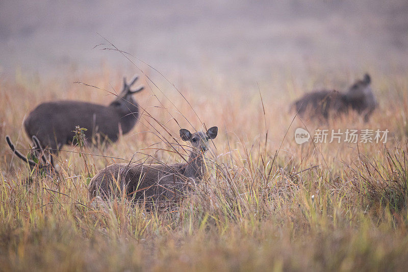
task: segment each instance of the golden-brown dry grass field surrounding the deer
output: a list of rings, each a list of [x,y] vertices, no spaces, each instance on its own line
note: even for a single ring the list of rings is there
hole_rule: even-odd
[[[250,88],[214,75],[198,89],[176,84],[185,98],[163,78],[155,81],[160,89],[145,81],[136,95],[145,111],[132,132],[107,147],[86,147],[81,157],[78,147],[64,146],[58,179],[30,173],[5,136],[27,153],[22,121],[35,105],[108,104],[107,91],[71,82],[119,91],[122,75],[105,69],[46,82],[0,79],[0,270],[406,269],[408,73],[371,73],[379,108],[368,123],[350,114],[321,124],[289,112],[304,91],[346,87],[363,73],[287,72]],[[146,211],[87,199],[85,162],[90,176],[132,158],[181,162],[163,139],[175,144],[180,128],[201,130],[201,122],[219,133],[207,178],[180,203]],[[299,145],[298,127],[390,133],[386,144]]]

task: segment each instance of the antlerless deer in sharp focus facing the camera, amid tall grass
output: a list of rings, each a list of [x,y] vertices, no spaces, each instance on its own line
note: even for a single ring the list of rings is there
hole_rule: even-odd
[[[134,200],[173,200],[186,188],[186,181],[198,181],[203,176],[204,153],[209,140],[217,136],[218,128],[190,133],[180,130],[180,137],[193,146],[186,163],[112,164],[96,174],[89,184],[89,199],[126,195]]]

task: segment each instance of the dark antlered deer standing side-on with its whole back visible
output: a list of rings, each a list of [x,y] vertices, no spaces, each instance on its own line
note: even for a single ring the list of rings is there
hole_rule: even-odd
[[[116,141],[119,127],[123,134],[129,132],[139,119],[139,105],[133,94],[143,86],[131,90],[136,76],[130,84],[123,79],[123,89],[109,105],[103,106],[80,101],[56,101],[38,105],[25,119],[24,128],[30,137],[37,136],[43,146],[58,152],[62,145],[70,144],[76,126],[86,128],[86,140],[99,133]]]

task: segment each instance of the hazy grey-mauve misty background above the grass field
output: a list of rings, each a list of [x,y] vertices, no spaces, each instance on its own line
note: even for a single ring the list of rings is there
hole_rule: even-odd
[[[137,69],[101,36],[168,77],[264,80],[319,67],[406,69],[408,2],[1,1],[0,73]],[[141,68],[146,65],[135,60]]]

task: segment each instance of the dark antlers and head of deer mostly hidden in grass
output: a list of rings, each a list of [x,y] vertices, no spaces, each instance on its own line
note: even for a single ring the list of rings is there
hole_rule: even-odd
[[[40,174],[45,174],[48,177],[52,176],[53,171],[56,172],[54,167],[53,156],[49,156],[49,160],[45,157],[45,151],[43,150],[40,141],[36,136],[32,137],[33,147],[29,152],[29,156],[25,157],[18,150],[16,150],[10,136],[6,136],[6,142],[10,146],[11,152],[15,154],[18,158],[27,163],[31,170],[36,169]]]

